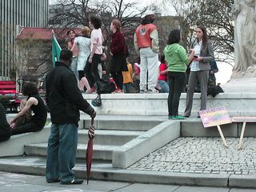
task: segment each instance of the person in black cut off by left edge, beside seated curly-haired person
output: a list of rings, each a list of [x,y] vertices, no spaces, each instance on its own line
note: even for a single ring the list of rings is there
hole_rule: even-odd
[[[6,120],[5,108],[0,103],[0,142],[4,142],[10,138],[10,125]]]

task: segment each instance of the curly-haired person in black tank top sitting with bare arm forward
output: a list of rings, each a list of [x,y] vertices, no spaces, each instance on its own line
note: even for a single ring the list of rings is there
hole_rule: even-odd
[[[36,132],[42,130],[46,124],[47,111],[42,98],[38,94],[37,86],[34,82],[24,82],[22,86],[22,94],[27,96],[26,106],[10,121],[12,135],[25,134],[28,132]],[[17,125],[18,119],[32,110],[34,115],[29,122]]]

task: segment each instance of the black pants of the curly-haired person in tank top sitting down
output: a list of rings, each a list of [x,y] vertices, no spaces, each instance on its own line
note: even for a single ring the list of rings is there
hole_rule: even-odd
[[[27,122],[20,126],[14,126],[14,128],[11,130],[11,135],[14,134],[25,134],[29,132],[36,132],[39,130],[42,130],[43,126],[38,126],[34,122]]]

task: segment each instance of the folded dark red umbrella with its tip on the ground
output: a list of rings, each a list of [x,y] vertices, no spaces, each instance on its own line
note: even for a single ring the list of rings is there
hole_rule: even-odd
[[[90,178],[90,167],[91,167],[91,162],[93,160],[93,152],[94,152],[94,118],[91,118],[90,122],[90,128],[88,130],[88,137],[89,141],[87,144],[87,150],[86,150],[86,174],[87,174],[87,185],[89,182]]]

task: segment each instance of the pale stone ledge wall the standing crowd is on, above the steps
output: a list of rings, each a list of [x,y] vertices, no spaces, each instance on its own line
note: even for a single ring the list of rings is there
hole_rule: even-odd
[[[200,110],[200,95],[194,94],[192,116],[197,116]],[[91,102],[96,94],[84,94]],[[98,114],[123,115],[163,115],[167,117],[168,94],[102,94],[102,106],[95,107]],[[186,106],[186,94],[180,98],[179,112],[183,114]],[[256,93],[222,93],[215,98],[207,97],[207,107],[225,106],[230,116],[256,114]]]

